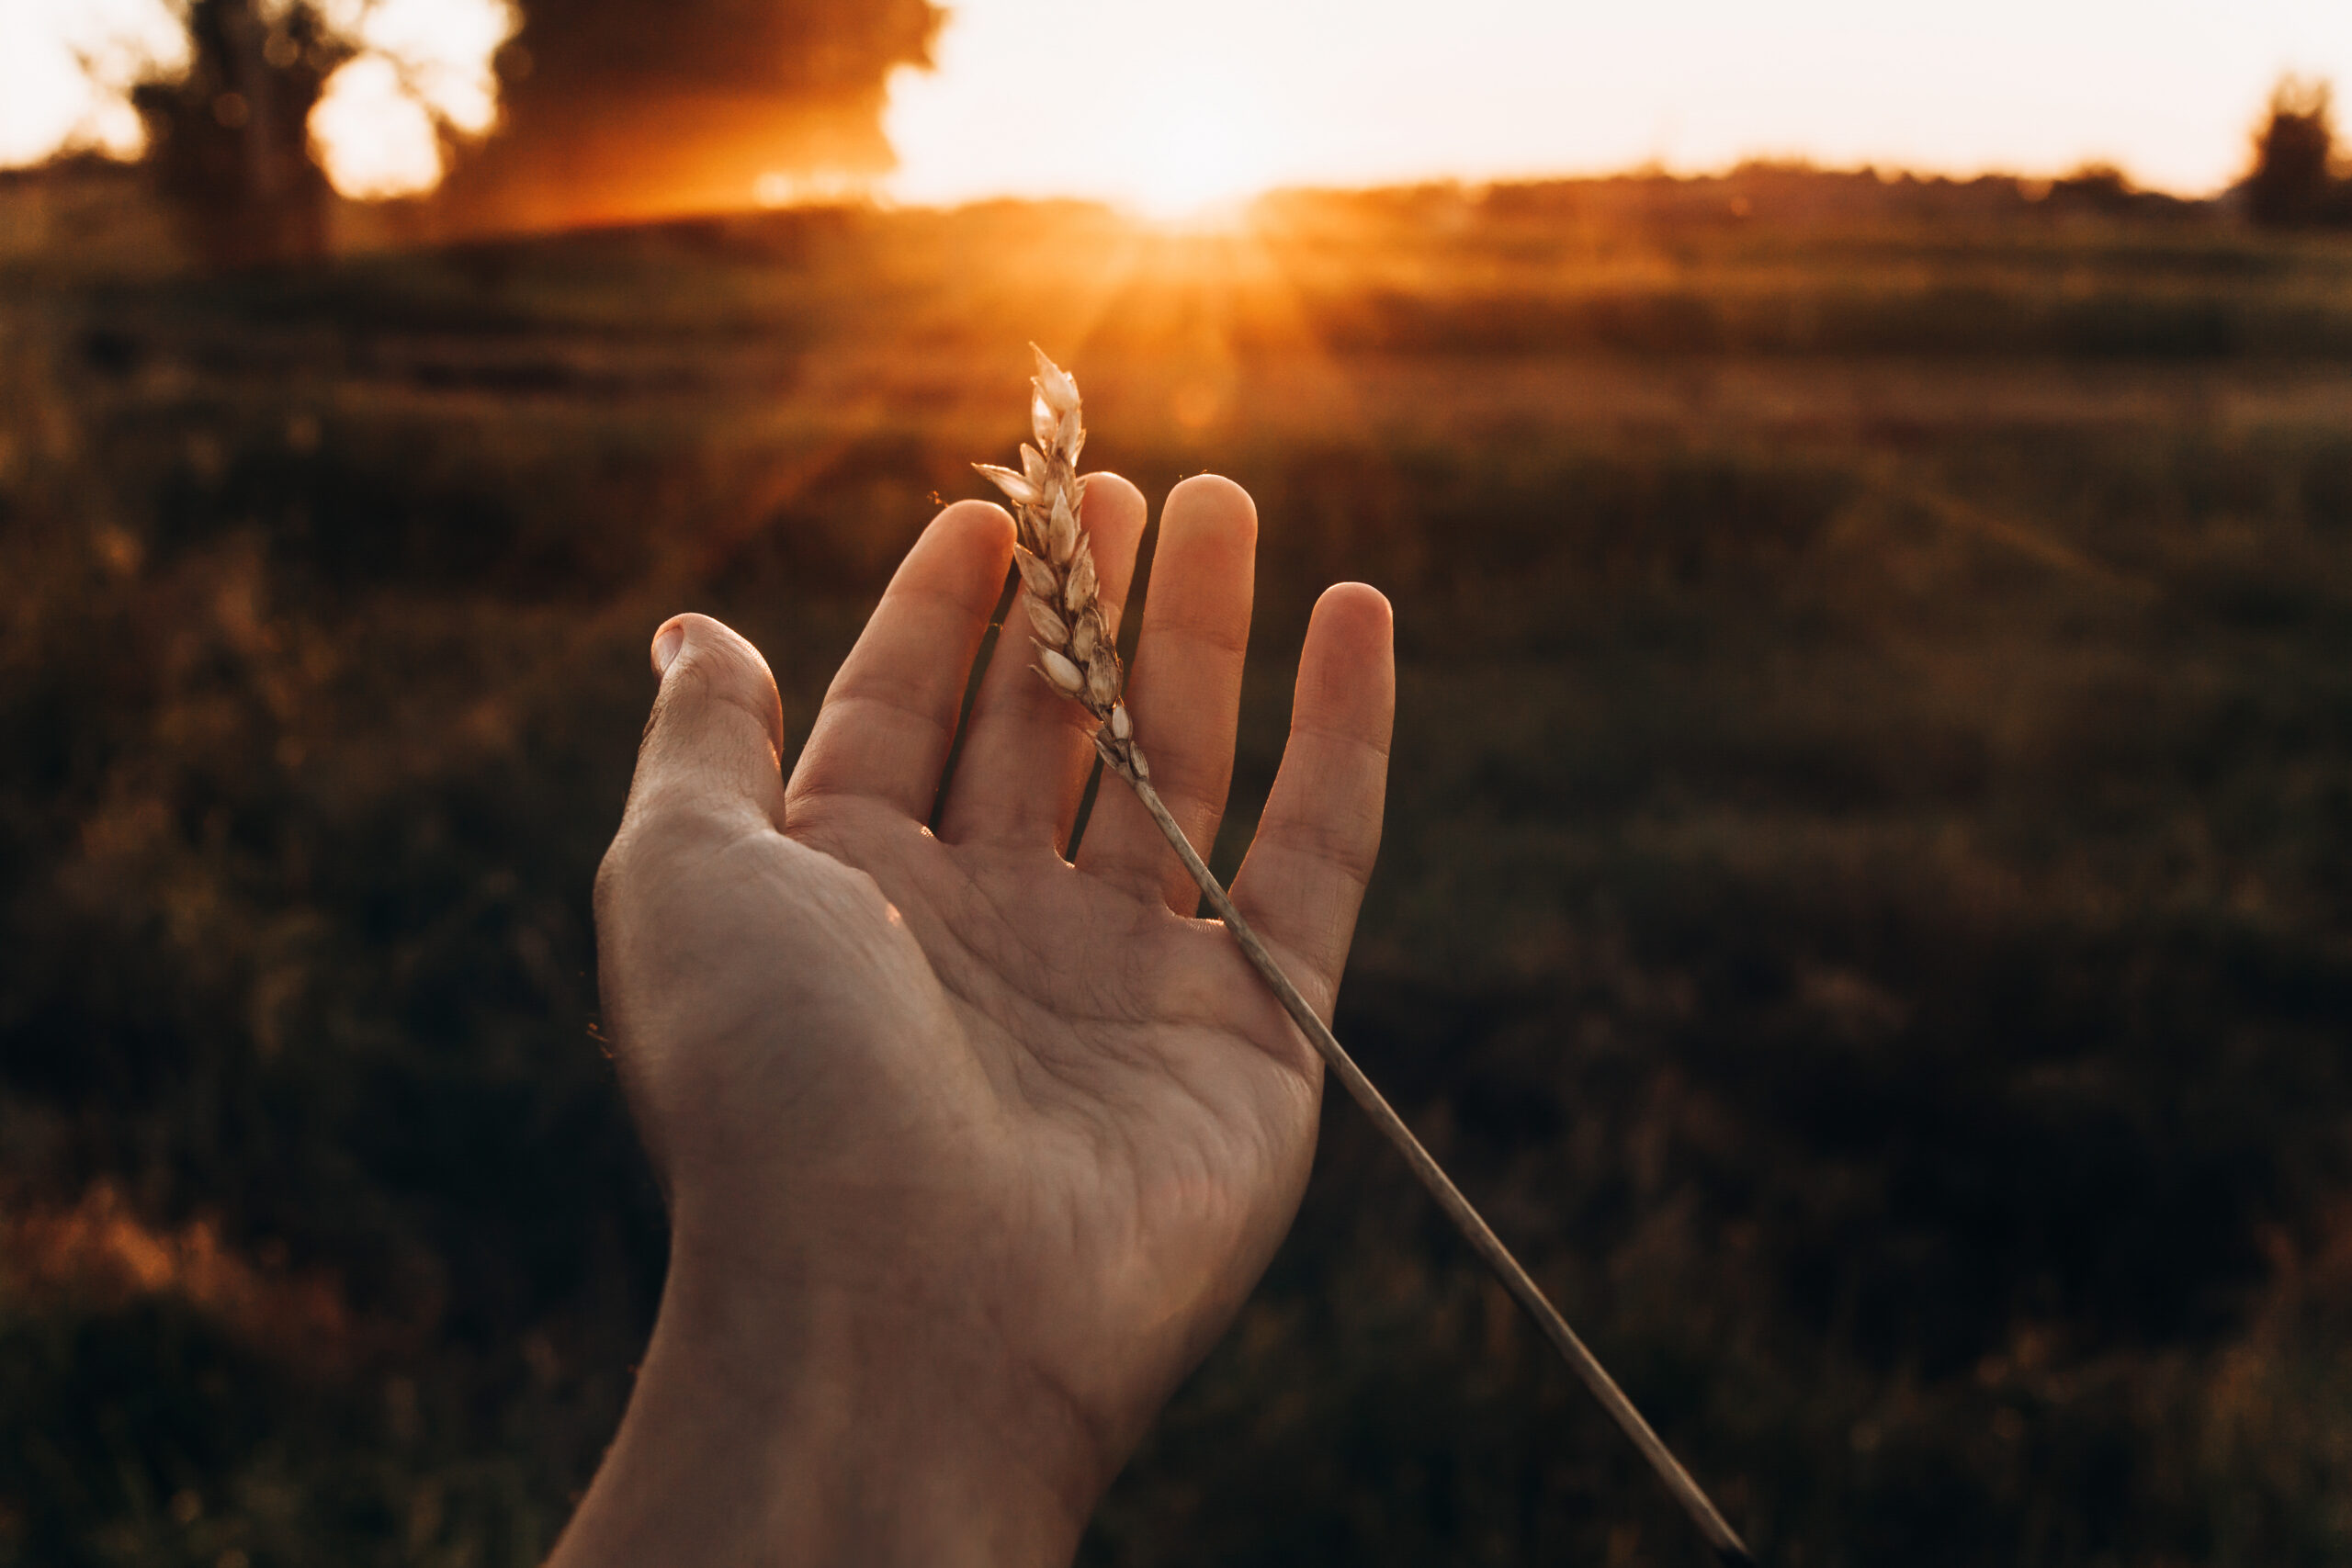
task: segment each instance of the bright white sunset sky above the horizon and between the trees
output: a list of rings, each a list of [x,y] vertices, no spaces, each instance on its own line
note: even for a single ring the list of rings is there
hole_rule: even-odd
[[[2206,193],[2241,172],[2281,71],[2352,99],[2352,0],[948,5],[938,71],[891,85],[889,195],[906,202],[1098,195],[1176,214],[1275,183],[1752,155],[1952,174],[2100,158]],[[430,186],[435,122],[489,122],[510,2],[325,9],[367,45],[310,125],[329,174],[350,195]],[[0,165],[61,143],[134,150],[122,94],[141,59],[179,47],[174,14],[176,0],[0,0]]]

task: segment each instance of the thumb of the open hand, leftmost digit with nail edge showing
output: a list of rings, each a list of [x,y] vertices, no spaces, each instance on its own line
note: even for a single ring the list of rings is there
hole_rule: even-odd
[[[623,832],[642,818],[783,825],[783,703],[760,649],[710,616],[654,632],[661,691],[637,748]]]

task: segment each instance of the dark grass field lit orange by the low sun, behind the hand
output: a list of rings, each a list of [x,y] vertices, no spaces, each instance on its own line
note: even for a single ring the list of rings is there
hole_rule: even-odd
[[[2352,242],[1757,169],[0,275],[0,1563],[532,1563],[588,879],[1021,430],[1397,604],[1338,1032],[1766,1561],[2352,1554]],[[1143,588],[1148,592],[1148,583]],[[1129,616],[1134,621],[1134,616]],[[1696,1563],[1345,1103],[1087,1563]]]

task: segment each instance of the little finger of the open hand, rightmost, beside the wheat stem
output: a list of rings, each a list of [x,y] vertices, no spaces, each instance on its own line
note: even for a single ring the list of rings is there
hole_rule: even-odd
[[[1397,710],[1395,618],[1364,583],[1324,590],[1298,654],[1291,741],[1232,903],[1298,959],[1294,983],[1327,1020],[1381,849]]]

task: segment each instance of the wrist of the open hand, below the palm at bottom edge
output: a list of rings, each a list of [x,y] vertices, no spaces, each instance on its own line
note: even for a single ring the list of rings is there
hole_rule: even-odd
[[[1061,1568],[1110,1465],[957,1312],[771,1258],[753,1272],[680,1232],[628,1415],[550,1568]]]

